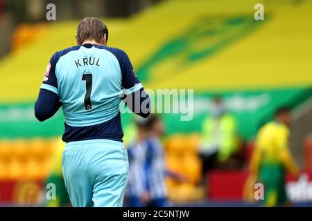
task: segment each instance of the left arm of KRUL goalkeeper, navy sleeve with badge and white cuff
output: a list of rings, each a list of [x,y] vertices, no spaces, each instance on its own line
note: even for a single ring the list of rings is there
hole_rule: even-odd
[[[55,76],[56,61],[56,56],[53,55],[50,63],[46,67],[44,80],[40,88],[37,102],[35,102],[35,117],[40,122],[52,117],[61,106],[58,95],[58,80]]]

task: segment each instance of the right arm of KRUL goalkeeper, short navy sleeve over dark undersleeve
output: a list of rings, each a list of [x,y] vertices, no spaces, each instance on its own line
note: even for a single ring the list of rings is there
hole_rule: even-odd
[[[135,114],[141,117],[150,115],[150,97],[137,78],[131,61],[125,52],[120,55],[120,66],[123,86],[123,102]]]

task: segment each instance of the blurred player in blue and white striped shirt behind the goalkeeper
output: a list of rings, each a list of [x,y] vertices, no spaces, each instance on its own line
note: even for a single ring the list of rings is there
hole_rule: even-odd
[[[139,142],[128,148],[130,175],[128,199],[130,206],[170,206],[166,176],[180,182],[187,177],[166,169],[164,147],[159,140],[164,133],[164,124],[157,115],[150,115],[138,123]]]

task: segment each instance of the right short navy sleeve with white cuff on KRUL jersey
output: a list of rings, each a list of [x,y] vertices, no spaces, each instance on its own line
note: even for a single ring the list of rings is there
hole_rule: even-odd
[[[143,88],[141,82],[137,78],[135,69],[133,68],[128,55],[123,52],[123,59],[121,61],[121,75],[122,75],[122,87],[125,95],[130,95],[137,90]]]

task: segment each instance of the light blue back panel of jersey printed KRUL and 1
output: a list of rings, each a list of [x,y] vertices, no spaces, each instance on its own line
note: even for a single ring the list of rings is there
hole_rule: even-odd
[[[122,94],[119,61],[104,46],[76,48],[62,56],[55,66],[66,122],[71,126],[105,122],[119,111]]]

